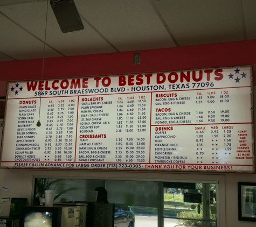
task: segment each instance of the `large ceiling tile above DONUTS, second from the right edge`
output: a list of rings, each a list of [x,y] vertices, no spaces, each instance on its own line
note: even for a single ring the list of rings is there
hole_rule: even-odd
[[[154,1],[180,46],[243,40],[237,1]]]

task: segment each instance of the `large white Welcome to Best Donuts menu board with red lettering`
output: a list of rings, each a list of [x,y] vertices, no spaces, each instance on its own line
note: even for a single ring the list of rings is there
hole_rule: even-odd
[[[8,82],[1,166],[254,172],[251,72]]]

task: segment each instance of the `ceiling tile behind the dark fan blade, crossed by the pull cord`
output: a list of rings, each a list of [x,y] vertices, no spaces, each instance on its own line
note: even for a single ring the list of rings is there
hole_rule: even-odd
[[[45,36],[46,1],[4,6],[0,10],[41,40]],[[62,33],[49,4],[46,43],[66,56],[116,52],[89,25],[85,29]]]

